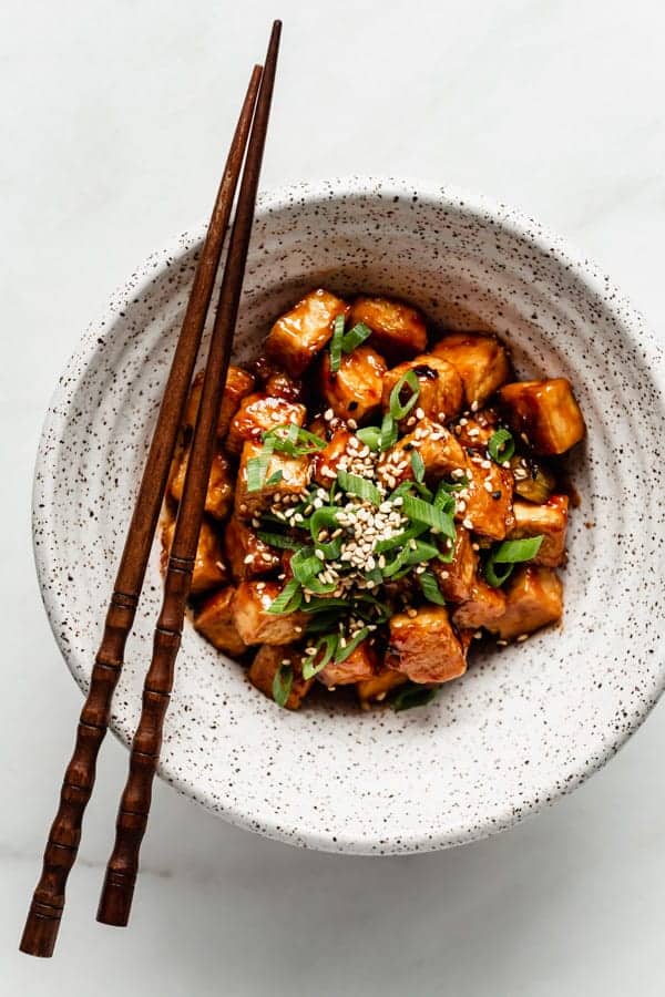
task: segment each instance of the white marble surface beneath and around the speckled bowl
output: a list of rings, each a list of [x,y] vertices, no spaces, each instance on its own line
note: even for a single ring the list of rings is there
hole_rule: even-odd
[[[655,0],[4,3],[0,994],[656,997],[662,706],[575,795],[440,854],[299,852],[157,784],[126,932],[94,922],[126,765],[110,739],[57,956],[16,950],[81,706],[31,559],[42,415],[109,291],[207,212],[275,14],[285,35],[264,186],[354,171],[484,192],[582,246],[663,329]]]

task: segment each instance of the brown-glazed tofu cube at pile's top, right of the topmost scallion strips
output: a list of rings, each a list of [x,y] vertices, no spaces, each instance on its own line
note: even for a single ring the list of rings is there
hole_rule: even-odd
[[[396,363],[422,353],[427,347],[424,319],[415,308],[389,298],[356,298],[350,325],[362,322],[372,336],[369,342]]]

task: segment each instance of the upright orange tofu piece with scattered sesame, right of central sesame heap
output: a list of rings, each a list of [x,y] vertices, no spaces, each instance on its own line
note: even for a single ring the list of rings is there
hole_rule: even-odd
[[[493,461],[489,467],[481,467],[479,460],[468,462],[469,494],[466,507],[458,505],[456,517],[481,536],[504,539],[514,523],[513,475]]]

